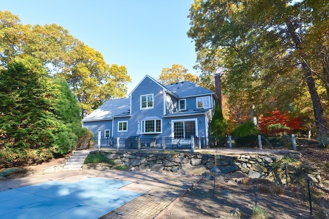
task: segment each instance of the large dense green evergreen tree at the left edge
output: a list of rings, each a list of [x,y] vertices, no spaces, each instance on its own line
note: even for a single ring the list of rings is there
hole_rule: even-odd
[[[21,155],[39,151],[47,160],[57,134],[66,129],[54,114],[59,90],[42,65],[29,57],[1,70],[0,85],[0,150]],[[10,156],[6,158],[9,162]],[[33,156],[27,158],[35,162]]]

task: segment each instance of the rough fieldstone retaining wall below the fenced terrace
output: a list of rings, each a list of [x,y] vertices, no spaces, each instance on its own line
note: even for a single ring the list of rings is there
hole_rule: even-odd
[[[278,184],[286,183],[285,169],[282,162],[279,162],[281,158],[284,156],[301,157],[301,154],[296,151],[276,155],[213,155],[190,152],[169,154],[142,151],[106,151],[105,153],[109,159],[114,160],[116,165],[128,166],[132,171],[170,171],[190,175],[202,174],[216,165],[222,174],[240,171],[251,178],[264,177]],[[287,167],[288,181],[297,180],[296,167]],[[111,167],[84,165],[83,168],[109,169]],[[318,168],[305,165],[300,169],[315,182],[320,182]]]

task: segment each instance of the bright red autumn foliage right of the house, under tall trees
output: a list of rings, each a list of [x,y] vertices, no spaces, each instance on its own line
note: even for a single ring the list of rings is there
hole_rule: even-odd
[[[301,124],[302,117],[274,110],[261,117],[259,129],[261,133],[268,135],[292,134],[301,129]]]

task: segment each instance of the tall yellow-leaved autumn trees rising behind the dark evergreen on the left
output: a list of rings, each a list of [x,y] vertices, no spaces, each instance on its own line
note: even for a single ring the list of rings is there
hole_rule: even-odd
[[[15,57],[32,56],[49,75],[64,75],[77,95],[82,117],[107,99],[123,97],[131,78],[125,66],[109,66],[103,55],[56,24],[22,25],[19,17],[0,11],[0,67]]]

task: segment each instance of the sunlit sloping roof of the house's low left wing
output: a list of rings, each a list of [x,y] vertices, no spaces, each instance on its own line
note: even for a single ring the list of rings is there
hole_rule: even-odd
[[[110,99],[83,118],[82,122],[112,120],[113,117],[130,115],[130,98]]]

